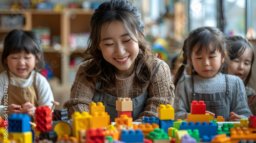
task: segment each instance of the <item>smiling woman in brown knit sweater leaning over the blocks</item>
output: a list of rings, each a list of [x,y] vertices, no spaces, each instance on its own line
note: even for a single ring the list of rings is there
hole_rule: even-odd
[[[124,0],[102,3],[91,17],[91,34],[84,61],[64,104],[68,116],[89,112],[102,102],[114,121],[117,98],[131,98],[133,120],[157,116],[159,104],[173,105],[174,85],[168,65],[152,54],[135,5]]]

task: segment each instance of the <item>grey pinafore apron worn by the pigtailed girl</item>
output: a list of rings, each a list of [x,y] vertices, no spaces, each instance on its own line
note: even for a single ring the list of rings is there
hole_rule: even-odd
[[[206,111],[215,113],[215,117],[223,116],[225,121],[228,121],[230,116],[230,100],[228,90],[228,78],[226,78],[226,91],[217,93],[197,93],[194,91],[194,80],[192,77],[192,101],[204,101],[206,104]]]

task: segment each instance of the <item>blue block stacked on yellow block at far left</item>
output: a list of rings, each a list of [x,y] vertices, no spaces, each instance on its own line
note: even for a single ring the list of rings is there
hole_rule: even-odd
[[[8,117],[9,132],[28,132],[30,131],[31,117],[28,114],[11,114]]]

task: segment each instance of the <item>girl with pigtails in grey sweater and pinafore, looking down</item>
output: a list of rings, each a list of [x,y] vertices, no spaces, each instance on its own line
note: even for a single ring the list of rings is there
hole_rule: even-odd
[[[239,121],[251,115],[243,81],[222,74],[228,63],[223,33],[217,28],[202,27],[188,35],[183,46],[183,64],[175,77],[175,118],[184,119],[192,101],[204,101],[206,110],[223,116],[225,121]],[[187,61],[191,76],[182,76]]]

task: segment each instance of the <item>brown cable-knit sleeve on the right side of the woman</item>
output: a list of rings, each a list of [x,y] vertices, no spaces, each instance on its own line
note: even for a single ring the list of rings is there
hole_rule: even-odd
[[[159,62],[160,60],[157,62],[157,64]],[[157,109],[160,104],[173,105],[175,87],[170,79],[169,66],[165,62],[160,63],[160,66],[158,67],[156,74],[153,76],[148,89],[150,91],[150,98],[148,98],[146,101],[144,112],[139,115],[138,120],[135,122],[141,122],[145,116],[156,117]]]

